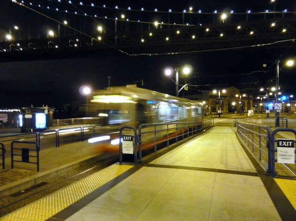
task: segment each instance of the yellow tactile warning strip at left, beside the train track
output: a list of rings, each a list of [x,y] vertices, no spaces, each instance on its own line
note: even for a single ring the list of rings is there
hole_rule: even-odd
[[[132,167],[113,164],[6,215],[0,221],[45,221]]]

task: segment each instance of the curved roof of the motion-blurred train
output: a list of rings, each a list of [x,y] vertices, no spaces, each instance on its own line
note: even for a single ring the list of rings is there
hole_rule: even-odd
[[[132,97],[133,99],[145,99],[145,100],[159,100],[173,103],[195,104],[203,106],[203,103],[189,100],[187,98],[176,97],[172,95],[163,94],[148,89],[138,88],[134,85],[127,85],[126,87],[111,87],[106,90],[94,91],[92,95],[124,95]]]

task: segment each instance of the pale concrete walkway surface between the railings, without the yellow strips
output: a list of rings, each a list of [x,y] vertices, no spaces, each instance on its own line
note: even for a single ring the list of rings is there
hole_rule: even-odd
[[[153,160],[66,219],[97,220],[282,219],[231,128],[218,126]]]

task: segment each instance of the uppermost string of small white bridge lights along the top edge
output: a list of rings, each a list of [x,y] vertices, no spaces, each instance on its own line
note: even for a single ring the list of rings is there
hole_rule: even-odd
[[[290,11],[288,9],[283,9],[281,11],[269,11],[269,10],[264,10],[264,11],[251,11],[251,10],[246,10],[245,12],[236,12],[234,10],[229,10],[229,11],[218,11],[218,10],[213,10],[213,12],[203,12],[201,9],[195,11],[192,6],[189,6],[187,9],[183,10],[172,10],[172,9],[167,9],[167,10],[158,10],[157,7],[154,9],[145,9],[145,7],[141,7],[139,9],[136,9],[134,7],[128,6],[127,8],[120,7],[118,5],[115,5],[113,7],[107,6],[106,4],[103,5],[97,5],[95,3],[84,3],[83,1],[73,1],[73,0],[47,0],[47,1],[54,1],[54,2],[59,2],[59,3],[65,3],[65,4],[73,4],[73,5],[80,5],[80,6],[85,6],[85,7],[94,7],[94,8],[104,8],[104,9],[112,9],[112,10],[120,10],[120,11],[140,11],[140,12],[152,12],[152,13],[177,13],[177,14],[222,14],[222,13],[229,13],[229,14],[282,14],[282,13],[295,13],[295,11]]]

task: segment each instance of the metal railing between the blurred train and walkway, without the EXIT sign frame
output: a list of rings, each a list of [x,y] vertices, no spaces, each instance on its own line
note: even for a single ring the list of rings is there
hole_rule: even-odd
[[[157,145],[166,142],[166,146],[169,147],[170,141],[175,140],[178,143],[179,137],[182,139],[185,136],[189,137],[200,132],[204,132],[210,127],[214,126],[214,118],[203,122],[180,122],[180,123],[167,123],[167,124],[143,124],[139,126],[138,143],[139,143],[139,161],[142,161],[142,149],[148,149],[154,146],[154,153],[157,152]],[[153,130],[144,131],[145,128],[152,127]],[[157,141],[157,134],[161,134],[161,139]],[[154,138],[154,142],[143,145],[144,141],[142,136],[145,134],[151,134]]]

